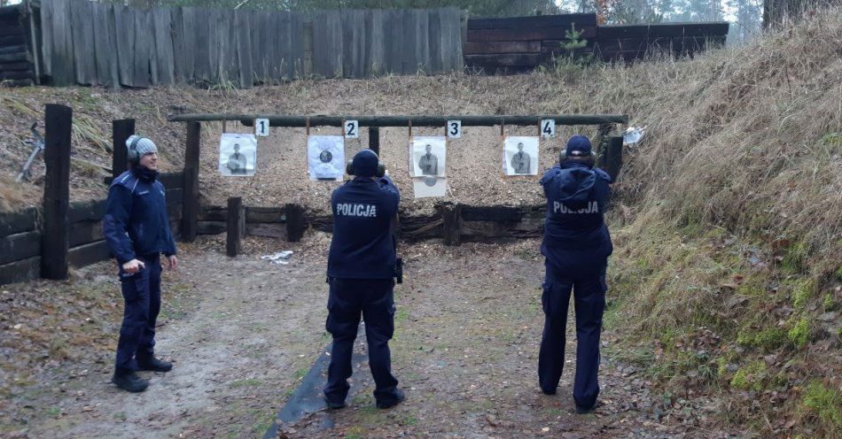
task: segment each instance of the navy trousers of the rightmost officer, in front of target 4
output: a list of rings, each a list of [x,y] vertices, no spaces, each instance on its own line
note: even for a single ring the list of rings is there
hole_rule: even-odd
[[[599,335],[605,309],[605,267],[585,276],[562,277],[547,267],[541,303],[544,331],[538,356],[538,381],[553,394],[565,366],[565,328],[570,293],[576,310],[576,377],[573,400],[580,407],[596,404],[599,395]]]

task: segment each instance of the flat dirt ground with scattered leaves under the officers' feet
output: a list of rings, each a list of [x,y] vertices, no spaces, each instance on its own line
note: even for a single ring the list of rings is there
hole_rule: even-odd
[[[329,240],[322,234],[296,244],[250,240],[238,258],[225,257],[218,238],[183,245],[180,270],[165,275],[156,346],[175,367],[144,373],[152,385],[137,395],[109,382],[121,313],[113,266],[90,266],[72,281],[5,286],[0,435],[261,437],[330,342]],[[294,250],[291,263],[260,258],[275,250]],[[542,395],[535,372],[542,331],[537,241],[461,247],[433,241],[399,251],[407,277],[395,289],[391,346],[407,400],[381,411],[373,389],[362,389],[346,409],[330,413],[332,428],[319,427],[316,413],[280,425],[281,437],[728,436],[699,427],[716,410],[712,401],[662,394],[635,367],[605,355],[610,329],[600,377],[604,405],[595,414],[573,411],[572,329],[570,368],[557,396]],[[62,311],[61,301],[79,291],[90,303]],[[27,332],[39,324],[41,331]],[[55,332],[47,339],[33,338],[50,325]],[[367,366],[360,368],[367,374]]]

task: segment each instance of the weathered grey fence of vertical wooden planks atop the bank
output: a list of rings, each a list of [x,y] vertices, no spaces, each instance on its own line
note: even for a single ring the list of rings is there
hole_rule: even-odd
[[[53,85],[278,83],[315,74],[462,68],[453,8],[298,12],[41,0],[43,74]]]

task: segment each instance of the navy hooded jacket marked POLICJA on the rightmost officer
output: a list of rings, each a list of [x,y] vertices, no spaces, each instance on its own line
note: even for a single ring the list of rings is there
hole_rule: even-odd
[[[541,252],[558,275],[598,273],[613,251],[604,212],[611,177],[602,169],[566,161],[544,173],[547,220]]]

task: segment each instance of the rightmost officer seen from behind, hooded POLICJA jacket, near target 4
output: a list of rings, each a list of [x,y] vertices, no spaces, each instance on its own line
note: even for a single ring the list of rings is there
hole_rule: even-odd
[[[574,135],[559,165],[544,173],[547,220],[541,252],[546,275],[541,298],[545,315],[538,377],[554,395],[565,363],[567,305],[576,311],[576,411],[587,413],[599,394],[599,335],[605,308],[605,268],[613,247],[604,223],[611,177],[594,167],[588,137]]]

